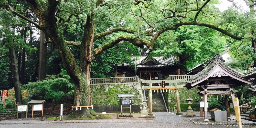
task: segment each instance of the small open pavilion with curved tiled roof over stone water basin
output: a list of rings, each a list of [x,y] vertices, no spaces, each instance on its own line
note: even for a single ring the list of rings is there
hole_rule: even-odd
[[[236,102],[234,102],[234,93],[237,91],[233,90],[233,88],[244,84],[251,84],[251,80],[243,78],[243,73],[230,68],[224,62],[220,54],[216,54],[211,61],[208,62],[205,69],[191,77],[191,80],[184,86],[188,89],[199,86],[198,89],[200,92],[198,92],[198,94],[204,96],[204,106],[206,106],[204,107],[204,121],[208,121],[207,95],[230,94],[234,106],[238,106]],[[225,100],[226,108],[228,109],[228,101],[227,99]]]

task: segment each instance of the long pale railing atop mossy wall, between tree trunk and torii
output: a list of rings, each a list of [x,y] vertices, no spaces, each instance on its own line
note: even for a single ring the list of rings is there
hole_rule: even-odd
[[[139,77],[111,77],[111,78],[91,78],[90,85],[99,84],[120,84],[120,83],[141,83]]]

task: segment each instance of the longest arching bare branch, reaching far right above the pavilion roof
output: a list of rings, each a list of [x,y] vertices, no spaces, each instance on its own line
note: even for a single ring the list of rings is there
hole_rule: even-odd
[[[180,26],[183,26],[183,25],[197,25],[197,26],[205,26],[205,27],[208,27],[208,28],[211,28],[211,29],[214,29],[214,30],[217,30],[219,31],[220,33],[223,33],[233,39],[236,39],[236,40],[241,40],[243,39],[242,37],[239,37],[239,36],[236,36],[236,35],[233,35],[231,33],[229,33],[228,31],[222,29],[222,28],[219,28],[215,25],[210,25],[210,24],[206,24],[206,23],[200,23],[200,22],[180,22],[176,25],[173,25],[173,26],[170,26],[170,27],[166,27],[166,28],[162,28],[160,29],[159,31],[156,32],[156,34],[154,35],[154,37],[152,38],[151,42],[150,42],[150,45],[153,46],[155,40],[162,34],[164,33],[165,31],[168,31],[168,30],[176,30],[178,27]]]

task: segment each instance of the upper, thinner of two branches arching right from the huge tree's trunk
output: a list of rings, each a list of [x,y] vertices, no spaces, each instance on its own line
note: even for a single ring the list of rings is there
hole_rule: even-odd
[[[99,33],[99,34],[96,34],[93,38],[93,41],[101,38],[101,37],[104,37],[106,35],[109,35],[109,34],[112,34],[114,32],[117,32],[117,31],[123,31],[123,32],[126,32],[126,33],[135,33],[136,31],[134,30],[131,30],[131,29],[126,29],[126,28],[113,28],[111,30],[108,30],[108,31],[105,31],[105,32],[102,32],[102,33]]]

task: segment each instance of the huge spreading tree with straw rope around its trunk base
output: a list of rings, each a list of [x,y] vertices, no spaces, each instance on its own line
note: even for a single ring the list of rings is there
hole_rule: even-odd
[[[135,46],[153,49],[161,34],[184,25],[208,27],[233,39],[243,39],[242,34],[234,34],[233,31],[218,26],[218,18],[208,22],[208,19],[212,19],[212,14],[218,14],[218,9],[214,7],[215,2],[217,1],[3,0],[0,4],[2,8],[43,31],[47,37],[46,41],[54,43],[68,75],[75,83],[73,105],[84,106],[92,105],[92,60],[119,42],[129,41]],[[26,11],[31,11],[34,17],[25,17]],[[79,25],[83,30],[81,42],[65,40],[63,31],[71,30],[76,21],[81,22]],[[98,47],[94,45],[96,41],[104,42]],[[79,62],[75,61],[68,45],[79,49]],[[89,113],[90,110],[78,109],[76,114]]]

